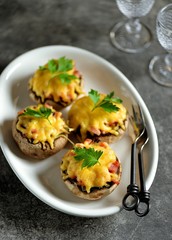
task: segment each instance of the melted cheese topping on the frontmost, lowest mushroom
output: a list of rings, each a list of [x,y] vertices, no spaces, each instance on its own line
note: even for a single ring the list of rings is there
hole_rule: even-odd
[[[109,183],[114,182],[119,184],[121,177],[121,165],[116,158],[114,151],[107,143],[91,143],[77,144],[77,147],[94,148],[98,151],[103,151],[99,158],[99,163],[92,167],[82,168],[82,161],[76,161],[74,151],[70,150],[62,159],[61,170],[64,173],[63,179],[74,179],[77,184],[85,187],[87,193],[90,193],[93,187],[108,187]],[[116,165],[116,171],[110,171],[111,165]],[[120,171],[119,171],[120,170]]]

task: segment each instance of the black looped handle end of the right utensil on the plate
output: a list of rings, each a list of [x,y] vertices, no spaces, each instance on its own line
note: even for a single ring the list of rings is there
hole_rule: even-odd
[[[150,210],[150,192],[149,191],[143,191],[139,192],[139,204],[135,206],[135,213],[139,217],[144,217],[148,214]]]

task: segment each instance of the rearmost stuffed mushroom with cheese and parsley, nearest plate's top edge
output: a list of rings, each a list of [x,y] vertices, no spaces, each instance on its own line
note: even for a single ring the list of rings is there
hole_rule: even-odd
[[[82,94],[83,78],[72,59],[51,59],[29,81],[30,97],[37,103],[60,110]]]

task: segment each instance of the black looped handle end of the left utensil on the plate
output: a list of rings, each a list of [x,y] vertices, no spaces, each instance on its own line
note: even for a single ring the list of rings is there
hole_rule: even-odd
[[[127,193],[125,194],[122,204],[125,210],[132,211],[139,205],[139,188],[137,184],[130,184],[127,187]]]

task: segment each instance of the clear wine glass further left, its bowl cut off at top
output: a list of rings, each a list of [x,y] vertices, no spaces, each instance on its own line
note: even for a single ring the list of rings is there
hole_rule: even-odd
[[[115,47],[124,52],[137,53],[150,46],[151,31],[139,18],[149,13],[154,2],[155,0],[116,0],[119,10],[128,19],[115,24],[110,31],[110,39]]]

